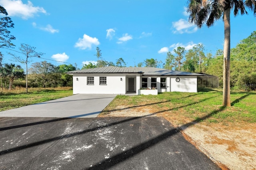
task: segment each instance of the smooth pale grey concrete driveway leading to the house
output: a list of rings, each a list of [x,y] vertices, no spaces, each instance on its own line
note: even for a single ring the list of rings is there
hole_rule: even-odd
[[[77,94],[2,111],[0,117],[97,117],[114,97],[116,95]]]

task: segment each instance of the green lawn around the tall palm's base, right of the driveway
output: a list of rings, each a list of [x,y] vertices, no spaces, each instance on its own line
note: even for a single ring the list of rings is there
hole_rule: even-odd
[[[222,106],[220,89],[204,89],[198,93],[166,92],[158,95],[124,96],[118,95],[101,114],[133,108],[136,111],[150,109],[151,114],[176,121],[205,123],[256,123],[256,93],[231,91],[231,107]]]

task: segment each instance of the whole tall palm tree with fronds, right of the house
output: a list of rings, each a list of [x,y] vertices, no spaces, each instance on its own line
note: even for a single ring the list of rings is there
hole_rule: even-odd
[[[201,28],[210,27],[216,20],[224,21],[224,65],[223,65],[223,106],[230,103],[230,11],[234,16],[248,14],[246,8],[256,16],[256,0],[188,0],[189,22]]]

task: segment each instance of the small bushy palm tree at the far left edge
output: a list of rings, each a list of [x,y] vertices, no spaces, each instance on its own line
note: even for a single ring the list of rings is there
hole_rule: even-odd
[[[21,66],[13,63],[5,63],[4,67],[2,68],[2,73],[3,75],[6,75],[6,77],[9,77],[9,90],[12,89],[14,79],[24,77],[25,75]]]

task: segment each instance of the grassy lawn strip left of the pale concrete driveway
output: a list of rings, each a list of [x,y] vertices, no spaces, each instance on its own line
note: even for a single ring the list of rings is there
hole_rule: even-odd
[[[67,97],[71,96],[72,93],[71,87],[30,88],[28,89],[28,94],[26,94],[25,88],[0,91],[0,111]]]

